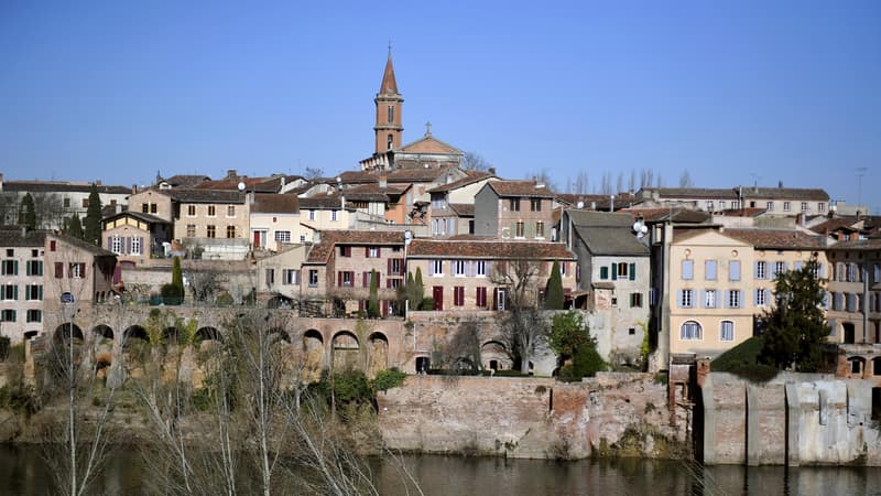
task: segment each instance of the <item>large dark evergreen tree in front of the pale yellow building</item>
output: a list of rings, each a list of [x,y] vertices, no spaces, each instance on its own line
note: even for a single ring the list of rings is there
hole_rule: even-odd
[[[759,360],[780,369],[817,371],[828,326],[823,314],[823,281],[816,255],[801,269],[779,272],[776,305],[765,313],[764,346]]]

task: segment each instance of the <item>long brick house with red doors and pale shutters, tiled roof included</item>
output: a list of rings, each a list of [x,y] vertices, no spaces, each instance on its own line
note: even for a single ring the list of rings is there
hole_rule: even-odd
[[[559,242],[414,239],[406,252],[406,270],[422,272],[425,296],[437,311],[504,311],[518,299],[541,304],[554,261],[559,262],[564,293],[572,293],[576,259]]]

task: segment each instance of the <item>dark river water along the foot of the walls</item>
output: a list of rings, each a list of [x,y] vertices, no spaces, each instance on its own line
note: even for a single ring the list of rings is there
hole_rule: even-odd
[[[881,495],[881,468],[699,467],[681,462],[548,462],[438,455],[402,457],[426,495]],[[135,450],[113,453],[95,494],[145,494]],[[399,467],[371,463],[382,495],[407,494]],[[0,444],[0,495],[52,494],[40,449]],[[412,488],[409,494],[413,494]]]

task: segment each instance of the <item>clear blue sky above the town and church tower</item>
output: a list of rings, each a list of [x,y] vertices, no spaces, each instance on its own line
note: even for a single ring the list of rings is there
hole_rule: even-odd
[[[381,6],[381,9],[379,8]],[[150,183],[328,175],[373,151],[393,45],[404,141],[507,177],[652,169],[824,187],[881,213],[881,2],[0,2],[0,171]]]

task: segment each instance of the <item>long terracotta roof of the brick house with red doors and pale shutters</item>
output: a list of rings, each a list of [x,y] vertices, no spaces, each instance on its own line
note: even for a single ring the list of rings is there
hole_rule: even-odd
[[[409,258],[483,258],[494,260],[575,260],[562,242],[414,239],[407,248]]]

